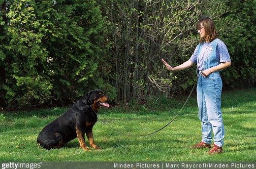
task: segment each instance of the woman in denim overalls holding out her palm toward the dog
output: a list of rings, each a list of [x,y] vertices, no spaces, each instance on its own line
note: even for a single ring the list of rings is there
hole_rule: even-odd
[[[190,59],[176,67],[171,67],[163,59],[162,62],[171,71],[184,70],[197,63],[197,101],[203,136],[200,143],[190,148],[210,148],[213,131],[214,144],[208,154],[222,153],[225,133],[220,110],[222,81],[219,71],[231,65],[230,55],[223,41],[217,38],[212,19],[202,18],[196,26],[200,43]]]

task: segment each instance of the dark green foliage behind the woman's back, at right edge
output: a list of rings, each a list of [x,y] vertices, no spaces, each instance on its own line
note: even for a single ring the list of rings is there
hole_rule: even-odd
[[[230,8],[221,19],[228,25],[220,31],[228,46],[232,66],[225,71],[225,83],[231,88],[244,88],[256,82],[256,1],[228,1]]]

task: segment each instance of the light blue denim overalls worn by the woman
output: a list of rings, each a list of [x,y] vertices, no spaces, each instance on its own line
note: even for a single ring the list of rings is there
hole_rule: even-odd
[[[211,52],[204,58],[202,71],[219,64],[219,61],[216,60],[216,47],[219,40],[214,39],[211,42],[212,48],[209,49]],[[198,54],[200,47],[201,44],[199,44]],[[202,142],[210,144],[213,131],[214,144],[222,147],[225,132],[220,110],[222,81],[219,72],[212,72],[207,77],[202,76],[199,70],[197,73],[199,75],[197,85],[198,116],[202,124]]]

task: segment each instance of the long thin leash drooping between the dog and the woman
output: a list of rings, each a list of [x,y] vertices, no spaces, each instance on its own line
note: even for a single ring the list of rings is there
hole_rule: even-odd
[[[196,87],[197,81],[198,81],[198,77],[199,77],[199,75],[197,76],[197,80],[196,80],[196,82],[195,82],[195,84],[194,84],[194,86],[193,86],[193,88],[192,88],[190,94],[188,95],[188,97],[187,97],[185,103],[183,104],[183,106],[181,107],[181,109],[179,110],[179,112],[173,117],[173,119],[172,119],[171,121],[169,121],[169,122],[168,122],[165,126],[163,126],[161,129],[158,129],[157,131],[154,131],[154,132],[149,133],[149,134],[132,135],[132,134],[123,133],[123,132],[121,132],[120,130],[114,129],[114,128],[112,128],[109,124],[107,124],[104,120],[102,120],[102,118],[100,117],[100,115],[99,115],[98,113],[96,113],[96,112],[93,110],[93,108],[91,107],[91,105],[90,105],[90,107],[91,107],[91,109],[94,111],[94,113],[100,118],[100,120],[101,120],[104,124],[106,124],[110,129],[112,129],[113,131],[115,131],[115,132],[117,132],[117,133],[120,133],[120,134],[123,134],[123,135],[126,135],[126,136],[149,136],[149,135],[155,134],[155,133],[157,133],[157,132],[159,132],[159,131],[165,129],[165,128],[179,115],[179,113],[181,112],[181,110],[182,110],[182,109],[184,108],[184,106],[186,105],[186,103],[187,103],[188,99],[190,98],[191,94],[193,93],[193,91],[194,91],[194,89],[195,89],[195,87]]]

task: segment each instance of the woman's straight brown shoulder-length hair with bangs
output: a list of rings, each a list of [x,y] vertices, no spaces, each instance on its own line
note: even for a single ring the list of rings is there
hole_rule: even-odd
[[[202,28],[201,23],[202,23],[202,26],[205,28],[205,36],[200,37],[201,44],[203,43],[203,41],[211,42],[215,38],[218,38],[217,30],[216,30],[213,20],[211,18],[205,17],[205,18],[200,19],[196,24],[197,29]]]

